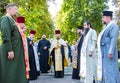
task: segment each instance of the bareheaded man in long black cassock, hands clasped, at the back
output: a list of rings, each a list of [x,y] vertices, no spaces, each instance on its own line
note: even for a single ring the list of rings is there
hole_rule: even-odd
[[[40,58],[40,71],[41,73],[47,73],[50,70],[48,64],[50,41],[46,39],[46,35],[42,35],[42,40],[38,43],[38,55]]]

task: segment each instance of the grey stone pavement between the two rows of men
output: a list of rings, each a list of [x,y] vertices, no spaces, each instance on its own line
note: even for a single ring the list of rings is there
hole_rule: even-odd
[[[80,83],[80,80],[72,79],[72,67],[65,68],[64,78],[54,78],[54,73],[41,74],[37,80],[30,83]]]

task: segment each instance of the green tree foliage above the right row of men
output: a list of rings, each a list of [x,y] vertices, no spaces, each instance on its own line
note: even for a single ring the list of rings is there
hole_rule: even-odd
[[[56,16],[57,27],[62,37],[72,43],[76,40],[76,27],[90,21],[93,28],[100,32],[102,28],[101,12],[106,7],[104,0],[63,0],[62,9]]]

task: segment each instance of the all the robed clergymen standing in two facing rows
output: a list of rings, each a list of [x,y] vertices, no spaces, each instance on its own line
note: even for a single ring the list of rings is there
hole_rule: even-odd
[[[72,79],[84,83],[120,83],[117,40],[119,27],[112,21],[111,11],[103,11],[103,30],[97,36],[91,23],[77,27],[78,40],[70,46],[55,30],[55,39],[46,34],[34,42],[35,30],[25,36],[25,17],[18,16],[15,4],[6,6],[0,19],[0,83],[29,83],[54,67],[54,77],[64,78],[64,67],[72,63]]]

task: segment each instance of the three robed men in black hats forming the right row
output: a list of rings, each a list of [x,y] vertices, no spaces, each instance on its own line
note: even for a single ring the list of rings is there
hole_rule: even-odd
[[[117,40],[119,27],[112,11],[103,11],[103,30],[98,38],[90,22],[78,26],[80,38],[74,42],[73,79],[84,83],[120,83]]]

